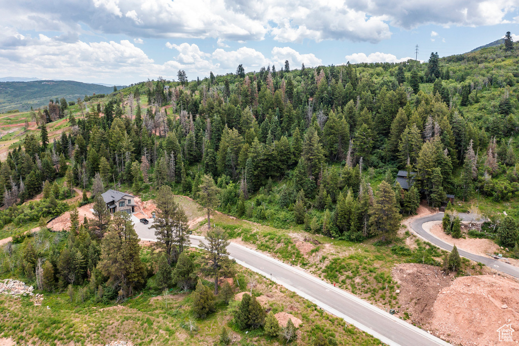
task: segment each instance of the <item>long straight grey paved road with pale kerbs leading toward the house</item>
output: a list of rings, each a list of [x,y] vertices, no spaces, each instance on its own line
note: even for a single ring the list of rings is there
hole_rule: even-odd
[[[137,218],[135,231],[143,240],[155,241],[153,230]],[[191,236],[192,246],[203,238]],[[425,330],[408,324],[380,310],[370,303],[327,284],[305,271],[268,257],[261,252],[231,243],[227,250],[237,263],[259,273],[272,281],[296,292],[324,310],[343,318],[346,322],[373,335],[391,346],[437,346],[447,342],[428,334]]]

